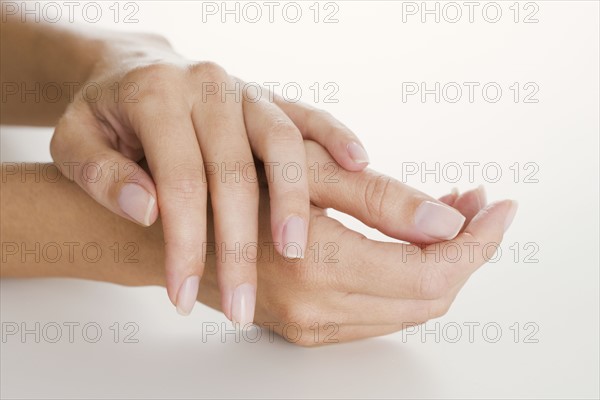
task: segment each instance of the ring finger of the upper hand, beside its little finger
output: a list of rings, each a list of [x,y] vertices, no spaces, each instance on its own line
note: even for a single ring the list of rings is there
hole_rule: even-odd
[[[248,138],[265,165],[271,200],[271,232],[277,251],[303,258],[307,241],[310,197],[302,135],[274,104],[244,103]]]

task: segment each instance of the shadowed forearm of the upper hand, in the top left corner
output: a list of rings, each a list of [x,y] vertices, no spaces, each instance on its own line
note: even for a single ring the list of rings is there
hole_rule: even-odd
[[[0,26],[0,121],[53,125],[69,102],[70,89],[89,76],[102,41],[56,24],[24,23],[5,14]]]

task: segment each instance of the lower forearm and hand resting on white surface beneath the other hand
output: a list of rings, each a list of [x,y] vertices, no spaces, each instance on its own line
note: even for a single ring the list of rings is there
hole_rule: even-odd
[[[305,142],[305,146],[310,161],[320,165],[333,161],[316,143]],[[7,164],[2,170],[3,278],[62,276],[131,286],[166,284],[160,221],[141,227],[99,206],[67,179],[50,182],[55,174],[49,169],[42,175],[49,178],[36,183],[32,175],[23,176],[21,168]],[[295,341],[299,345],[327,343],[332,326],[337,330],[335,339],[343,342],[392,333],[443,315],[469,276],[492,256],[491,251],[482,250],[501,242],[516,211],[510,200],[486,205],[480,189],[460,196],[451,194],[441,200],[459,210],[466,220],[455,239],[418,246],[376,242],[327,217],[324,208],[339,209],[391,236],[412,241],[418,231],[411,229],[410,221],[428,196],[371,170],[338,172],[336,183],[311,181],[308,243],[313,250],[303,260],[285,259],[269,245],[269,200],[261,196],[258,245],[263,251],[256,261],[254,321],[272,326],[279,334],[286,323],[294,322],[306,330],[318,323],[323,329],[320,339],[304,335]],[[266,190],[264,184],[261,188]],[[219,243],[212,234],[212,220],[209,212],[207,250],[214,250]],[[79,243],[77,247],[71,245],[75,249],[72,261],[64,245],[67,242]],[[62,248],[58,260],[49,243]],[[81,250],[89,243],[95,243],[105,256],[91,262],[96,254],[91,252],[86,259]],[[115,243],[122,250],[117,259],[111,250]],[[131,250],[126,246],[131,243],[137,249],[133,256],[137,262],[125,262]],[[461,248],[464,256],[452,261],[440,258],[440,246],[445,245]],[[27,255],[23,249],[34,251]],[[207,254],[198,300],[222,310],[218,256],[212,250]],[[242,250],[236,253],[240,257],[251,254]]]

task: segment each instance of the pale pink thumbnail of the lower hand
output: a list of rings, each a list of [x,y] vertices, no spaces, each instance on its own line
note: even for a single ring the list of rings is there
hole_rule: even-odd
[[[432,201],[424,201],[415,212],[416,227],[436,239],[453,239],[464,222],[465,216],[454,208]]]

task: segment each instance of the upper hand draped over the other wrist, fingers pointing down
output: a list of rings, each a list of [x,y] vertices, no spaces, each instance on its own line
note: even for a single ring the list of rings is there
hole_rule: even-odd
[[[64,175],[117,215],[148,226],[160,210],[167,292],[177,310],[189,314],[204,270],[207,193],[215,240],[225,251],[257,241],[253,153],[270,166],[272,237],[288,258],[302,258],[306,250],[303,137],[322,143],[348,170],[362,170],[368,159],[356,136],[324,112],[279,98],[270,102],[264,94],[242,104],[240,82],[222,67],[185,60],[160,38],[124,40],[105,46],[83,85],[99,88],[102,96],[76,97],[56,126],[51,153]],[[143,157],[152,178],[136,164]],[[297,168],[298,179],[274,169],[287,165]],[[255,262],[219,259],[223,311],[251,322]]]

